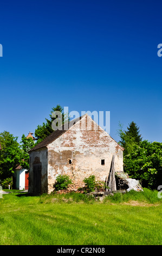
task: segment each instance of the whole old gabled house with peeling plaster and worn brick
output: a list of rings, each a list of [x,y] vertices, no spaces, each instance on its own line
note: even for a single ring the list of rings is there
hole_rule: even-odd
[[[123,148],[88,114],[69,122],[68,130],[57,130],[29,151],[30,194],[50,193],[57,175],[66,174],[75,187],[95,175],[105,181],[114,155],[115,172],[123,171]]]

